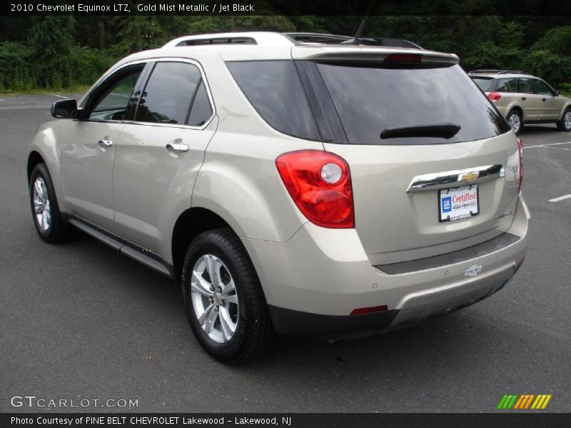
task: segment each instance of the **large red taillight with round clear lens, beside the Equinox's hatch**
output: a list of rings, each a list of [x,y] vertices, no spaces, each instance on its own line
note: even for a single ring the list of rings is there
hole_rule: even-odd
[[[354,228],[349,165],[318,150],[284,153],[276,167],[285,188],[308,220],[324,228]]]

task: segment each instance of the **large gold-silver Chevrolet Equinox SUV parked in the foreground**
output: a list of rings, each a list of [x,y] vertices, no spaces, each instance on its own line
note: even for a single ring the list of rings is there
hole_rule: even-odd
[[[180,282],[230,363],[500,290],[530,218],[505,119],[455,55],[316,39],[187,36],[56,102],[27,164],[41,238],[74,226]]]

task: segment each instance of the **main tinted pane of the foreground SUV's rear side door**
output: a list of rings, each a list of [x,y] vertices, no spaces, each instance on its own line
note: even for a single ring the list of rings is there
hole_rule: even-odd
[[[135,120],[186,123],[188,108],[201,81],[198,67],[189,63],[156,63],[141,96]]]

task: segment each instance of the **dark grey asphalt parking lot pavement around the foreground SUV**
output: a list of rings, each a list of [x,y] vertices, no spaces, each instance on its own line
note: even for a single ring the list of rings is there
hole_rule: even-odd
[[[571,134],[521,133],[530,248],[496,295],[378,337],[281,338],[227,367],[194,339],[174,282],[81,233],[36,235],[26,156],[58,96],[0,95],[0,412],[494,412],[503,394],[571,412]]]

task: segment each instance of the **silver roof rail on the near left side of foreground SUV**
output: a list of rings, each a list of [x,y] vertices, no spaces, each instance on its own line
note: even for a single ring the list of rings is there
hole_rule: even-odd
[[[211,44],[256,44],[258,46],[293,46],[288,36],[270,31],[252,31],[244,33],[198,34],[182,36],[169,41],[163,48],[175,46],[200,46]]]

